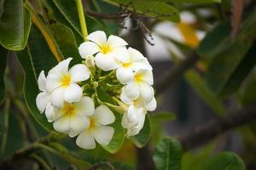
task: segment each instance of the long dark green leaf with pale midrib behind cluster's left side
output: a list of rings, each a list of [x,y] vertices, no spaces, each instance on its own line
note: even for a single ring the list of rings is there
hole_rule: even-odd
[[[40,72],[44,70],[46,74],[57,64],[57,61],[49,50],[44,36],[36,26],[32,25],[26,49],[18,53],[18,58],[25,72],[24,95],[26,105],[40,125],[46,130],[53,130],[51,123],[47,122],[46,116],[39,113],[36,97],[39,93],[38,76]]]

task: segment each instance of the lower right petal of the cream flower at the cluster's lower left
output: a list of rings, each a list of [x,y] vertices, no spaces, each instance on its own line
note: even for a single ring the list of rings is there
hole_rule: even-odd
[[[89,127],[90,121],[88,116],[80,116],[75,114],[70,116],[70,127],[74,132],[81,133],[85,128]]]

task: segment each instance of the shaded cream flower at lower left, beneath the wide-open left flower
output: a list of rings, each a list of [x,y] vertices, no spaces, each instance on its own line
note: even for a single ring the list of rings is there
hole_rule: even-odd
[[[54,128],[61,133],[74,137],[90,126],[90,116],[95,111],[94,102],[90,97],[82,97],[73,104],[65,102],[61,109],[55,109]]]

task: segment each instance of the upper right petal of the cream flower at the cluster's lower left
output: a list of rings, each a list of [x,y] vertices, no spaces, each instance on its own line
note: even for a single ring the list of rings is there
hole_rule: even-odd
[[[79,115],[91,116],[95,111],[94,102],[90,97],[84,96],[79,102],[73,104]]]

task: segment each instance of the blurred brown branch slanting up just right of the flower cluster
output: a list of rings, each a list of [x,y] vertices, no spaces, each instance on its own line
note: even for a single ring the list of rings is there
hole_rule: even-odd
[[[169,88],[173,82],[177,82],[179,78],[183,76],[183,73],[187,71],[195,62],[199,59],[199,56],[193,52],[188,58],[183,59],[179,64],[172,67],[169,71],[166,71],[160,79],[160,82],[156,83],[155,95],[158,95]]]

